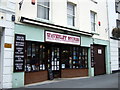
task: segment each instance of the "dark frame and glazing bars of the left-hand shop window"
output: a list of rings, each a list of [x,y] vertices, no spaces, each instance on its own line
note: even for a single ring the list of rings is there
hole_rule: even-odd
[[[36,61],[34,61],[34,62],[36,62],[35,65],[32,63],[33,62],[32,61],[33,60],[33,57],[32,57],[32,55],[33,55],[33,53],[32,53],[33,52],[33,46],[32,45],[33,44],[35,45],[35,49],[34,49],[35,50],[35,53],[34,53],[35,58],[34,58],[34,60],[36,60]],[[37,54],[36,54],[37,53],[36,52],[36,48],[37,48],[36,45],[38,45],[38,59],[37,59]],[[40,46],[41,45],[46,48],[46,45],[44,43],[34,42],[34,41],[26,41],[25,72],[39,72],[39,71],[47,70],[47,68],[46,68],[46,65],[47,65],[46,57],[45,58],[43,58],[43,57],[40,58],[40,55],[41,55]],[[28,46],[30,46],[31,48],[30,48],[30,62],[27,63],[27,61],[28,61],[28,53],[27,53]],[[42,47],[42,49],[43,49],[43,47]],[[42,50],[42,56],[43,56],[43,53],[46,55],[46,51],[43,52],[43,50]],[[42,62],[42,63],[40,63],[40,62]],[[34,65],[37,70],[33,70],[32,65]],[[30,68],[31,70],[29,71],[28,68]]]

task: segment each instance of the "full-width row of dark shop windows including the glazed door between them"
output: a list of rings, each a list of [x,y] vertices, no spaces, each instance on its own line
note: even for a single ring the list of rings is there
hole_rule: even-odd
[[[72,45],[49,45],[26,42],[26,72],[88,68],[87,48]]]

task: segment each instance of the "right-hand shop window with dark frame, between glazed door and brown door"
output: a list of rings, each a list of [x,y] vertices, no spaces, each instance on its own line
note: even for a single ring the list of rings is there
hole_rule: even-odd
[[[61,50],[62,48],[64,48],[64,46],[61,47]],[[83,51],[86,51],[85,53],[87,53],[87,55],[83,53]],[[88,48],[69,46],[68,53],[68,61],[62,61],[61,59],[61,69],[88,69]],[[69,61],[72,63],[70,64]],[[62,68],[62,64],[65,64],[65,68]],[[66,65],[69,67],[66,67]]]

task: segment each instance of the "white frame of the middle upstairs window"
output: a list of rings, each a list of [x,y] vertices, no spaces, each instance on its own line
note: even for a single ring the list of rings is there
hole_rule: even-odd
[[[70,8],[68,8],[68,4],[73,6],[73,14],[68,13],[68,9],[70,10]],[[68,16],[73,18],[72,25],[70,25],[68,23]],[[71,2],[67,2],[67,25],[75,27],[75,24],[76,24],[76,4],[73,4]]]

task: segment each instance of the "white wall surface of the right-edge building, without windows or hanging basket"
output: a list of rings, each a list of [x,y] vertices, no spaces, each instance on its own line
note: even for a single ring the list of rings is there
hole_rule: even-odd
[[[108,0],[108,18],[109,18],[109,35],[112,37],[112,30],[115,28],[118,14],[115,9],[115,0]],[[118,40],[110,39],[111,54],[111,72],[118,70]]]

